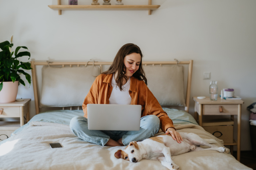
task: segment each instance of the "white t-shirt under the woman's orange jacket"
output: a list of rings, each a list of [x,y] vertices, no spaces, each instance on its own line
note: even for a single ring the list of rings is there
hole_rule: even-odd
[[[129,77],[128,81],[123,85],[123,90],[120,91],[119,87],[116,85],[115,74],[111,81],[113,90],[109,98],[109,104],[116,105],[131,105],[131,96],[129,94],[131,78]]]

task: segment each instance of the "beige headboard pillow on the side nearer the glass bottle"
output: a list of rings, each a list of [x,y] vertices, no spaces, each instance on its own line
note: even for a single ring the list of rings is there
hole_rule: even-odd
[[[183,66],[143,66],[148,88],[160,105],[186,106],[184,97]]]

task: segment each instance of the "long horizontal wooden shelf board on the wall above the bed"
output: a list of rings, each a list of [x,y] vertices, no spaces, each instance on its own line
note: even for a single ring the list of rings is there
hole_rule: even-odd
[[[49,5],[53,10],[156,10],[160,5]]]

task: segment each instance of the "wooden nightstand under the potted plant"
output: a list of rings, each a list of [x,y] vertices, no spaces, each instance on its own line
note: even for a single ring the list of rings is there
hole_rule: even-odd
[[[0,141],[9,138],[17,128],[29,121],[30,101],[31,99],[24,99],[20,102],[0,103]]]

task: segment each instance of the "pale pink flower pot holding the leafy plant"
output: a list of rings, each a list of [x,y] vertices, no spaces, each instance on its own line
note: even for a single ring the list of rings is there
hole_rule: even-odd
[[[18,85],[19,81],[3,82],[3,89],[0,91],[0,103],[15,102],[18,94]]]

